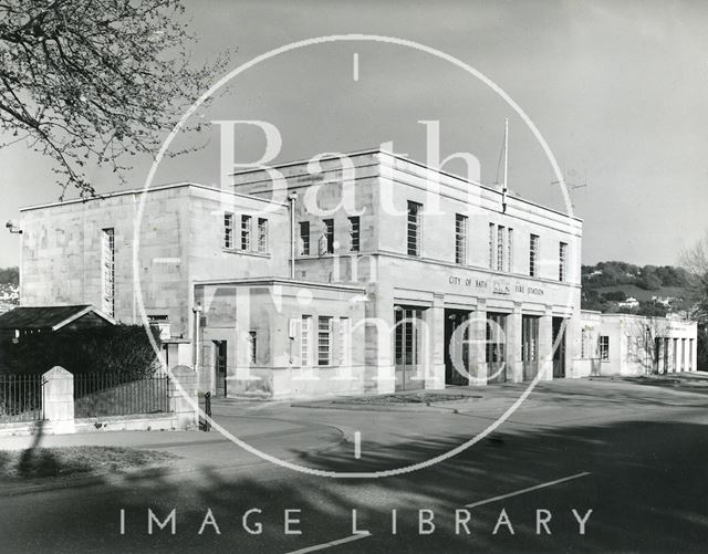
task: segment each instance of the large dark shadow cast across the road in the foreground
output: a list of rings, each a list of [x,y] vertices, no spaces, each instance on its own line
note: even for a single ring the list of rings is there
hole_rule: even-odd
[[[670,417],[670,416],[667,416]],[[332,552],[499,552],[702,551],[708,539],[708,459],[705,425],[625,421],[559,429],[500,432],[492,440],[419,471],[379,479],[325,479],[272,466],[222,473],[204,469],[175,479],[106,480],[100,487],[30,494],[3,500],[0,532],[9,552],[290,552],[352,533],[372,535]],[[395,448],[302,453],[317,467],[336,471],[397,468],[430,459],[466,437],[429,437]],[[298,452],[293,452],[298,453]],[[471,535],[456,534],[455,510],[587,471],[590,475],[470,510]],[[148,534],[148,509],[165,522]],[[214,525],[199,529],[211,510]],[[261,534],[250,534],[262,524]],[[493,527],[504,509],[514,534]],[[551,535],[537,534],[537,513],[549,510]],[[584,535],[577,521],[592,509]],[[121,534],[121,510],[125,534]],[[284,534],[284,511],[301,535]],[[392,510],[397,510],[392,534]],[[435,513],[433,534],[418,533],[418,510]],[[543,530],[542,530],[543,531]]]

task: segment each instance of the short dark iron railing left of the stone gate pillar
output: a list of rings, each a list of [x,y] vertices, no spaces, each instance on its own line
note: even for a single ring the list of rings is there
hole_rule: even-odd
[[[41,375],[0,375],[0,424],[43,419],[42,385]]]

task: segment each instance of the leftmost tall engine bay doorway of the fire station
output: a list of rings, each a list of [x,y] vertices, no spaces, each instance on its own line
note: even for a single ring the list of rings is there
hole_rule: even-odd
[[[396,390],[420,388],[423,310],[419,307],[394,306],[394,356]]]

